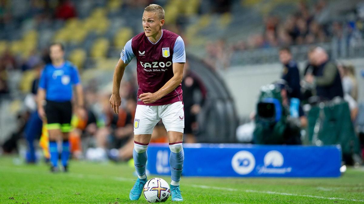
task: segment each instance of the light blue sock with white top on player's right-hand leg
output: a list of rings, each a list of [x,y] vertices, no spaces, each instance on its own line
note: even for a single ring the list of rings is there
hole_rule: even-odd
[[[185,153],[183,152],[182,142],[170,143],[169,148],[171,154],[169,155],[169,165],[171,166],[171,185],[179,186],[183,170],[183,160],[185,160]]]

